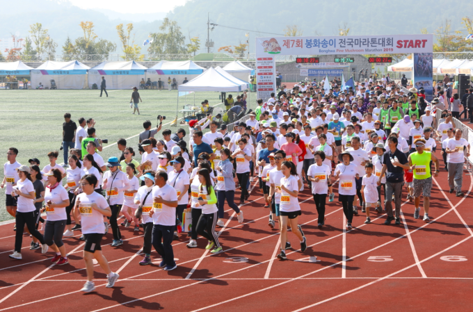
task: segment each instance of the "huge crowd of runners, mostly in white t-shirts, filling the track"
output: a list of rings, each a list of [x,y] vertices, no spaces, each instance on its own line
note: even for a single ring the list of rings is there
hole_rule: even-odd
[[[428,103],[424,90],[411,88],[406,94],[386,80],[357,83],[348,90],[340,90],[337,79],[330,84],[327,92],[315,81],[290,90],[282,85],[278,95],[273,93],[266,102],[259,99],[255,112],[230,132],[209,115],[191,121],[188,130],[165,129],[163,139],[157,140],[162,119],[156,129],[146,121],[138,150],[120,139],[120,156],[107,161],[99,155],[102,142],[96,138],[94,120],[80,118],[77,127],[66,113],[64,135],[73,133],[69,140],[74,145],[65,148],[65,164],[56,163],[59,154],[51,151],[42,168],[37,158],[22,165],[16,161],[19,151],[8,149],[0,187],[16,221],[10,258],[22,259],[26,231],[31,250],[51,250],[51,261],[65,265],[63,238],[81,231],[88,279],[81,290],[95,290],[94,259],[107,274],[106,287],[113,287],[119,276],[109,268],[101,241],[111,229],[111,245],[119,247],[120,229],[133,224],[134,231],[143,233],[139,265],[152,263],[154,248],[162,258],[159,267],[174,270],[175,239],[189,240],[186,246],[196,248],[202,236],[212,254],[225,252],[216,233],[216,227],[225,226],[225,204],[243,223],[242,205],[251,206],[248,197],[255,186],[255,192],[264,195],[268,226],[280,231],[280,259],[286,259],[285,250],[291,248],[288,229],[297,237],[300,252],[307,247],[298,224],[298,195],[305,189],[312,192],[321,230],[326,202],[333,202],[336,193],[346,229],[353,228],[353,215],[360,210],[366,215],[364,223],[385,210],[385,224],[401,224],[403,188],[406,200],[415,204],[414,217],[430,222],[432,179],[441,170],[434,154],[438,142],[450,192],[464,196],[463,163],[470,144],[438,98]],[[473,90],[470,94],[473,97]],[[440,120],[436,110],[442,110]],[[210,131],[204,134],[207,126]],[[187,133],[189,142],[184,140]],[[259,183],[252,186],[252,178]]]

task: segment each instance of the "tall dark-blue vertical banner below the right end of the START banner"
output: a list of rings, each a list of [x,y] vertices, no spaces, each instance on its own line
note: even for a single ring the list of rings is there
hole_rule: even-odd
[[[415,53],[414,54],[414,87],[419,90],[424,88],[426,92],[426,101],[433,99],[433,54]]]

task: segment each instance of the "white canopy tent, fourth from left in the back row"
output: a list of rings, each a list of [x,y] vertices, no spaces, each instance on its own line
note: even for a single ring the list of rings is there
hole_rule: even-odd
[[[170,60],[161,60],[153,67],[146,69],[146,78],[152,82],[161,79],[163,88],[168,88],[168,78],[176,79],[177,85],[182,84],[184,79],[191,81],[204,72],[205,68],[193,63],[192,60],[183,62],[173,62]]]

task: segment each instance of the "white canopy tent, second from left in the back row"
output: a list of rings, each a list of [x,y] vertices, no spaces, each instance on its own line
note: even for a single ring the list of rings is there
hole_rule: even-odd
[[[70,62],[47,60],[46,63],[31,70],[31,88],[34,89],[42,83],[45,88],[51,89],[51,80],[54,80],[58,89],[86,89],[89,68],[77,60]]]

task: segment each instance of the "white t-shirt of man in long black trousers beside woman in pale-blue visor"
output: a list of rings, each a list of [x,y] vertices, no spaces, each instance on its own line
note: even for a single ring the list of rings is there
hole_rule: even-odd
[[[160,196],[166,201],[177,201],[177,192],[169,184],[166,184],[162,188],[154,186],[150,195],[152,195],[152,198]],[[176,207],[170,207],[161,203],[153,203],[153,211],[153,224],[166,226],[176,225]]]

